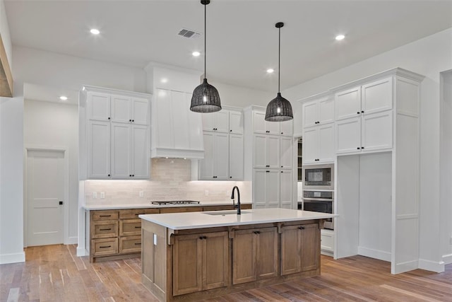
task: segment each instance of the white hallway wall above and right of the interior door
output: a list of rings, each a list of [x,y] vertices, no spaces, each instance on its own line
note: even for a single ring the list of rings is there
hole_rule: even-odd
[[[66,243],[77,242],[78,214],[78,107],[64,103],[26,100],[23,112],[25,148],[64,148],[69,152],[69,207]],[[25,206],[24,206],[25,207]]]

